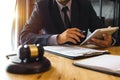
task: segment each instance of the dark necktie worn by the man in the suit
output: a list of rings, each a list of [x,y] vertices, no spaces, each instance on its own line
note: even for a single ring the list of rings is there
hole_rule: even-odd
[[[69,20],[69,17],[67,15],[67,10],[68,10],[67,6],[62,8],[62,12],[64,13],[64,24],[65,24],[66,28],[70,27],[70,20]]]

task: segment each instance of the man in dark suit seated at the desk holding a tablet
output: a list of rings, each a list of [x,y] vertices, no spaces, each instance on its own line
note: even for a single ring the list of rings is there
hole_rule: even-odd
[[[70,23],[66,26],[63,7],[68,7]],[[20,44],[61,45],[80,44],[88,33],[105,27],[97,17],[89,0],[39,0],[20,33]],[[84,30],[85,33],[80,31]],[[108,47],[112,36],[103,34],[104,39],[92,38],[87,44]]]

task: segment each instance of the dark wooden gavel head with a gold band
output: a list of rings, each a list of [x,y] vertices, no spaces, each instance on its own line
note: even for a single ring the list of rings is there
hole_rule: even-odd
[[[18,57],[22,62],[40,61],[44,55],[44,48],[40,44],[20,45]]]

